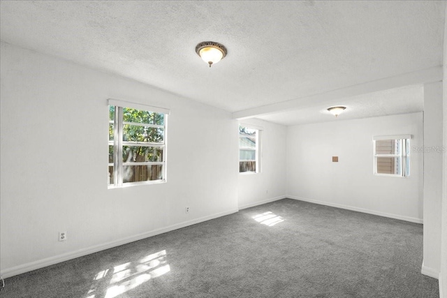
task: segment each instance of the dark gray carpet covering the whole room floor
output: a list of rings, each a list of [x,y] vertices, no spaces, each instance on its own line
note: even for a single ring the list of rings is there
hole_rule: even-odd
[[[423,226],[279,200],[6,279],[1,297],[439,297]]]

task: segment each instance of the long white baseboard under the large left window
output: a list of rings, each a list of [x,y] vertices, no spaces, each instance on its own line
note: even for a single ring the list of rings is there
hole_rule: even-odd
[[[166,228],[161,228],[161,229],[152,230],[152,231],[149,231],[149,232],[144,232],[144,233],[141,233],[141,234],[136,234],[136,235],[133,235],[131,237],[126,237],[126,238],[119,239],[119,240],[116,240],[116,241],[110,241],[110,242],[105,243],[105,244],[98,244],[96,246],[90,246],[88,248],[82,248],[82,249],[80,249],[78,251],[73,251],[73,252],[64,253],[64,254],[61,254],[61,255],[56,255],[54,257],[45,258],[45,259],[42,259],[42,260],[37,260],[35,262],[29,262],[29,263],[24,264],[24,265],[19,265],[19,266],[16,266],[16,267],[4,269],[3,271],[0,272],[0,275],[3,278],[8,278],[8,277],[11,277],[11,276],[15,276],[17,274],[22,274],[22,273],[25,273],[25,272],[28,272],[28,271],[41,269],[43,267],[54,265],[54,264],[57,264],[57,263],[60,263],[60,262],[65,262],[65,261],[68,261],[68,260],[79,258],[79,257],[82,257],[84,255],[89,255],[91,253],[97,253],[98,251],[104,251],[105,249],[113,248],[113,247],[120,246],[120,245],[123,245],[123,244],[128,244],[128,243],[131,243],[133,241],[138,241],[138,240],[141,240],[141,239],[145,239],[147,237],[152,237],[152,236],[156,236],[158,234],[163,234],[163,233],[170,232],[170,231],[173,231],[173,230],[177,230],[177,229],[180,229],[180,228],[185,228],[185,227],[187,227],[189,225],[195,225],[196,223],[202,223],[204,221],[210,221],[211,219],[219,218],[221,216],[226,216],[226,215],[229,215],[229,214],[233,214],[233,213],[236,213],[237,211],[238,211],[237,209],[231,209],[229,211],[221,212],[221,213],[218,213],[218,214],[212,214],[210,216],[203,216],[201,218],[196,218],[196,219],[193,219],[191,221],[184,221],[182,223],[177,223],[175,225],[170,225],[170,226],[168,226]]]

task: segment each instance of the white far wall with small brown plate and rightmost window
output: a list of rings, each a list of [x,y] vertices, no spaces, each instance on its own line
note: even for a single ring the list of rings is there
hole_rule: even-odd
[[[288,198],[422,222],[423,154],[411,152],[410,177],[373,174],[372,137],[400,134],[413,135],[411,149],[422,147],[423,114],[289,126]]]

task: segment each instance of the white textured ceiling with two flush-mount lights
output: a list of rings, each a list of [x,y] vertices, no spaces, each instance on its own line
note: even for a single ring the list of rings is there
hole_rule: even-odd
[[[348,105],[345,119],[423,110],[421,82],[314,105],[297,99],[443,61],[445,1],[0,3],[7,43],[286,125],[328,121],[321,111],[330,105]],[[228,49],[212,68],[195,52],[205,40]],[[293,112],[255,112],[287,100]]]

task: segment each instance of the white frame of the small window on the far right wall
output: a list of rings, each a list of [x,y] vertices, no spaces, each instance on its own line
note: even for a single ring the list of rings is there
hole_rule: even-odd
[[[374,148],[374,175],[386,176],[386,177],[409,177],[410,176],[410,140],[411,135],[379,135],[372,138]],[[400,153],[398,154],[377,154],[376,153],[376,141],[378,140],[393,140],[397,141],[400,147]],[[378,158],[390,157],[397,158],[400,161],[400,174],[385,174],[377,172]]]

